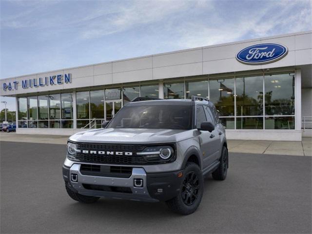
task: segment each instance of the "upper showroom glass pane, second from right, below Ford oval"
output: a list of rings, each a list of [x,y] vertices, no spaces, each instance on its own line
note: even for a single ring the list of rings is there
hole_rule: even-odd
[[[263,115],[263,76],[236,78],[237,116]]]

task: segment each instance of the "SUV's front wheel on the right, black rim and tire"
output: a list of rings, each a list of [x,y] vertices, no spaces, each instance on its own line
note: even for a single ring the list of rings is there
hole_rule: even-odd
[[[175,213],[190,215],[196,211],[204,191],[204,179],[197,164],[188,162],[183,171],[182,183],[178,195],[166,201]]]

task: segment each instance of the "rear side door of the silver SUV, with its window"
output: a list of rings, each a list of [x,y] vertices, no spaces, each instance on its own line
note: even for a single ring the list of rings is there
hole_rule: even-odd
[[[209,146],[211,149],[212,160],[215,161],[220,156],[220,144],[221,144],[220,135],[219,135],[220,131],[218,130],[217,123],[216,123],[216,120],[212,113],[211,108],[207,105],[207,106],[204,106],[204,109],[205,109],[207,121],[215,125],[215,130],[211,133],[211,136],[210,136],[211,145]]]

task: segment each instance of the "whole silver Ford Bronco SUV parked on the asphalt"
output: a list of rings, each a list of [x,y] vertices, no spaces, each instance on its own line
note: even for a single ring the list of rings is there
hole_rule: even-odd
[[[69,137],[63,178],[68,195],[165,201],[188,215],[197,209],[204,176],[224,180],[225,130],[212,102],[135,98],[102,129]]]

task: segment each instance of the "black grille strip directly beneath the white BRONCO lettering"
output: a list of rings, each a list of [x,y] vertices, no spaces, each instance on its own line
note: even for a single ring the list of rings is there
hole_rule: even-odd
[[[148,164],[143,156],[119,156],[119,155],[89,155],[78,153],[76,160],[80,162],[103,163],[103,164]]]

